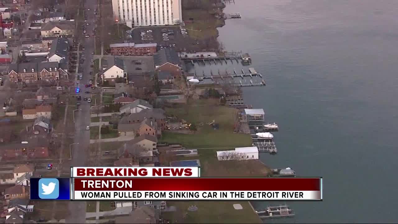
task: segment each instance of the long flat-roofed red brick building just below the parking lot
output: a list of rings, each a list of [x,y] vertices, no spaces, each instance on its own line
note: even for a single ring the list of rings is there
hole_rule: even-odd
[[[111,55],[153,55],[156,53],[157,43],[113,43],[109,45]]]

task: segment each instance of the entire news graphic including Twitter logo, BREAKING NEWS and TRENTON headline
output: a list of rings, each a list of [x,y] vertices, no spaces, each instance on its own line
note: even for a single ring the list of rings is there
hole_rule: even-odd
[[[322,200],[322,177],[204,178],[200,167],[71,167],[70,178],[31,178],[31,200]]]

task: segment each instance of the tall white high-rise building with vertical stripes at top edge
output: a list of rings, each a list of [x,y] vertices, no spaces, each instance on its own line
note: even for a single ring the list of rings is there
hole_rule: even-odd
[[[182,21],[181,0],[112,0],[115,20],[129,27],[174,25]]]

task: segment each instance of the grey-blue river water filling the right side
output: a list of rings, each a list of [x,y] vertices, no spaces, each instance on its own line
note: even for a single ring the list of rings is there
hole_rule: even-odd
[[[270,167],[324,177],[323,202],[286,222],[398,222],[398,1],[236,0],[219,41],[250,53],[266,87],[244,98],[277,122]],[[279,202],[254,202],[257,209]],[[282,202],[283,204],[283,202]]]

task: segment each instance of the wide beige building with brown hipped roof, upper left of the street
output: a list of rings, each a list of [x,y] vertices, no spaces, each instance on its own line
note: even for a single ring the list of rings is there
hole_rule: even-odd
[[[42,37],[59,37],[73,35],[75,23],[72,21],[46,22],[41,28]]]

